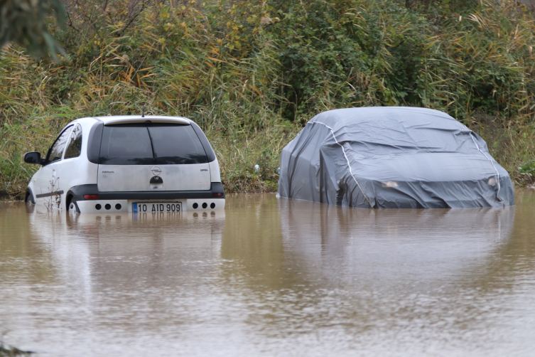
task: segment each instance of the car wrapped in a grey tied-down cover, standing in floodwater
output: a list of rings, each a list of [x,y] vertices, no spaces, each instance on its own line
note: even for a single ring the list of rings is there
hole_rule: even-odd
[[[514,205],[509,174],[481,137],[413,107],[316,115],[282,151],[279,195],[360,208]]]

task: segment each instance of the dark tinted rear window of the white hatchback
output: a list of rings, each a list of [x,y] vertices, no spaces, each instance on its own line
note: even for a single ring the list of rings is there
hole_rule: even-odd
[[[205,149],[191,125],[121,124],[104,126],[99,164],[204,164]]]

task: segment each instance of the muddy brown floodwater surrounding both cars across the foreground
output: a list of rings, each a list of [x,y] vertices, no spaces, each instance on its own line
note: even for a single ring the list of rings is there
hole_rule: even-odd
[[[517,206],[47,213],[0,203],[0,339],[36,356],[533,356]]]

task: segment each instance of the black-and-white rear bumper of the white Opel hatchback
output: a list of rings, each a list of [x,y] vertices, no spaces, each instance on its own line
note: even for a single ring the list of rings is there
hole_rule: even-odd
[[[215,193],[222,196],[214,197]],[[99,197],[96,200],[87,200],[84,195]],[[183,211],[213,211],[225,208],[225,190],[220,182],[212,182],[208,191],[99,192],[97,185],[80,185],[70,188],[68,196],[72,196],[71,202],[76,203],[80,213],[132,212],[132,203],[148,202],[180,202]]]

